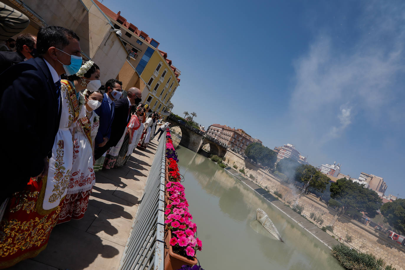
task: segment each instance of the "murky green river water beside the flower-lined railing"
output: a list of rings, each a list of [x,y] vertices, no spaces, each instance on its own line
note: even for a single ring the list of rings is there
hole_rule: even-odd
[[[203,241],[196,256],[205,270],[344,269],[323,243],[223,168],[185,147],[176,151]],[[257,208],[269,215],[284,242],[263,234]]]

